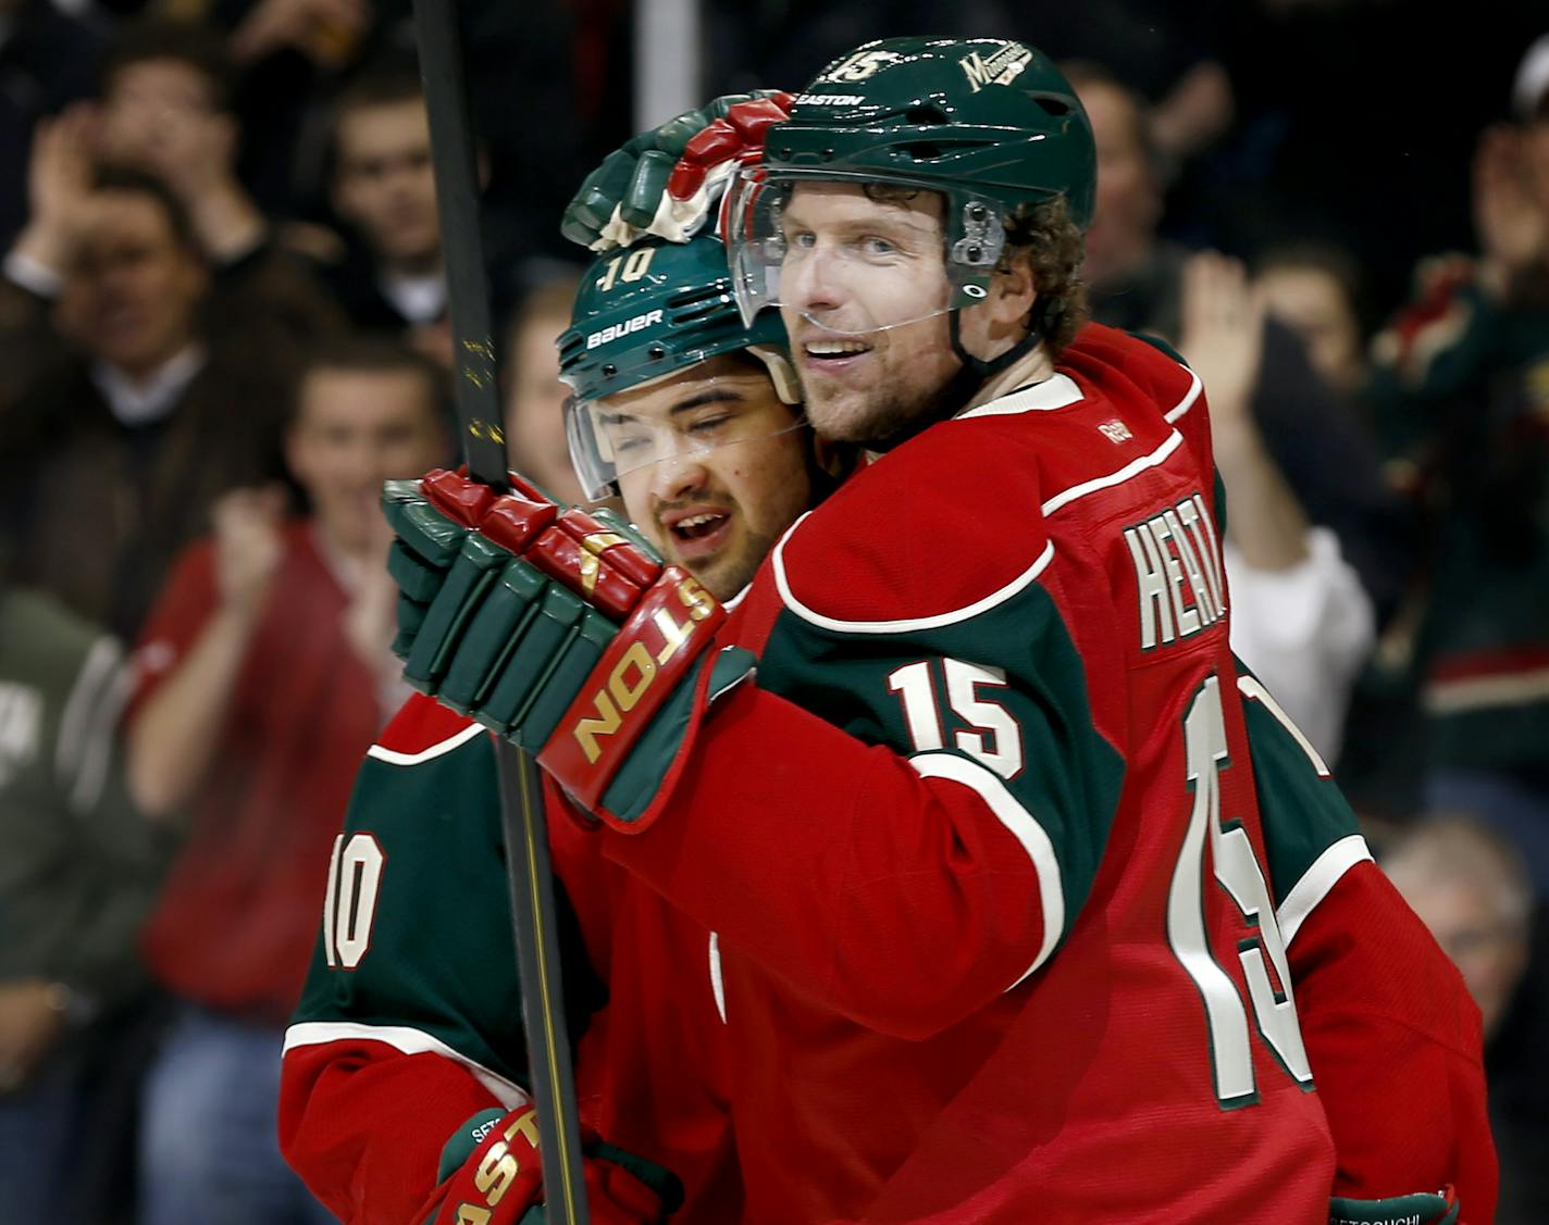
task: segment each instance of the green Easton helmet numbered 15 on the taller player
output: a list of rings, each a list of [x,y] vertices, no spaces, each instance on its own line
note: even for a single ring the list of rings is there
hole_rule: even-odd
[[[1005,39],[881,39],[835,60],[770,129],[764,161],[731,186],[723,225],[737,305],[779,304],[779,211],[796,183],[940,192],[953,307],[985,296],[1004,218],[1064,198],[1084,231],[1097,194],[1092,127],[1041,51]]]

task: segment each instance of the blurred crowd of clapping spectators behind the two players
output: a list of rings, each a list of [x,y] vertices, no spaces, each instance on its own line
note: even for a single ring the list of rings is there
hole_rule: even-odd
[[[460,5],[516,468],[623,0]],[[1501,1222],[1549,1220],[1549,20],[1484,0],[705,3],[705,94],[1021,37],[1092,119],[1098,321],[1202,376],[1233,644],[1484,1014]],[[0,1217],[327,1220],[279,1047],[406,695],[381,482],[452,460],[407,0],[0,0]]]

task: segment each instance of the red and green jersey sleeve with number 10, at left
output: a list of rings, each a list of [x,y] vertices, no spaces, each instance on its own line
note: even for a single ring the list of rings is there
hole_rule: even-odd
[[[361,765],[285,1038],[280,1144],[344,1220],[409,1220],[448,1137],[527,1096],[503,864],[488,734],[410,698]],[[561,928],[579,1016],[596,991]]]

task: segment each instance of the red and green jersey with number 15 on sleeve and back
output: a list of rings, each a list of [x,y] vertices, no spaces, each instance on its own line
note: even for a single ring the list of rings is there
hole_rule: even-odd
[[[604,835],[720,935],[748,1220],[1326,1216],[1199,384],[1112,347],[802,519]]]

